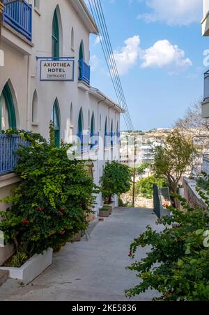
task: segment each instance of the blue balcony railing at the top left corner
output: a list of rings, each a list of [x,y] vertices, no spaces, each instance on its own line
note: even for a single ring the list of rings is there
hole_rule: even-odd
[[[8,0],[4,0],[7,3]],[[15,31],[32,41],[32,5],[17,1],[4,7],[3,22],[13,27]]]

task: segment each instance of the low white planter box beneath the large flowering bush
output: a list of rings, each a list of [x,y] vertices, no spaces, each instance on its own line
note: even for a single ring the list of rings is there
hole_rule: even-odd
[[[45,250],[43,254],[31,257],[31,259],[26,261],[20,268],[0,267],[0,270],[8,270],[10,278],[21,280],[22,283],[28,284],[38,277],[47,267],[52,265],[52,254],[53,250],[49,248]]]

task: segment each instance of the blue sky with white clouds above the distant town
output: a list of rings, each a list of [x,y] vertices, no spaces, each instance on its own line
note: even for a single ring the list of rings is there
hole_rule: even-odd
[[[88,2],[88,1],[87,1]],[[203,97],[202,0],[101,0],[135,130],[173,127]],[[116,101],[100,40],[91,35],[91,86]],[[125,129],[122,119],[121,129]]]

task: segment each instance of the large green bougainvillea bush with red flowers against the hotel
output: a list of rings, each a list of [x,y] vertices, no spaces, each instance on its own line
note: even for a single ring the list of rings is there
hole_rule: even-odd
[[[95,202],[98,187],[85,169],[84,161],[70,160],[70,145],[47,142],[38,134],[7,131],[8,136],[20,134],[29,142],[17,151],[19,162],[15,173],[22,181],[12,197],[0,230],[6,241],[14,243],[17,252],[27,257],[47,248],[59,248],[72,236],[87,227],[86,215]]]

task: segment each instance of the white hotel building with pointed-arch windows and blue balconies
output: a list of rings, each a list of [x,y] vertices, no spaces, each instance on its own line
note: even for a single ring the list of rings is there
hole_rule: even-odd
[[[52,119],[58,145],[61,139],[76,143],[75,139],[80,138],[82,143],[87,143],[82,152],[88,157],[89,150],[97,152],[100,144],[100,159],[96,159],[93,168],[95,183],[99,184],[105,158],[111,160],[119,156],[123,109],[91,87],[91,33],[96,35],[98,29],[84,0],[24,0],[5,6],[0,46],[4,55],[4,65],[0,66],[0,130],[17,127],[49,138]],[[61,62],[69,63],[67,78],[41,81],[53,79],[45,72],[40,77],[42,60],[46,63],[54,60],[53,63],[59,63],[59,69]],[[58,70],[59,74],[65,70]],[[5,145],[0,135],[0,199],[19,181],[12,172],[12,152],[8,152]],[[99,195],[96,212],[101,205]],[[0,204],[0,210],[5,208],[6,205]]]

